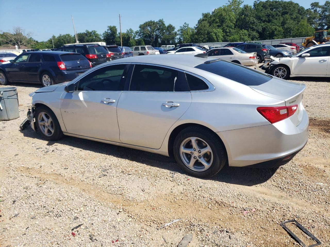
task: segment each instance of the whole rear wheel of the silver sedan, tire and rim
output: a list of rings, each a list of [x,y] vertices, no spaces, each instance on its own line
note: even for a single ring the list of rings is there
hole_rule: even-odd
[[[214,176],[227,162],[226,151],[219,137],[201,126],[183,129],[175,138],[173,149],[181,168],[200,178]]]

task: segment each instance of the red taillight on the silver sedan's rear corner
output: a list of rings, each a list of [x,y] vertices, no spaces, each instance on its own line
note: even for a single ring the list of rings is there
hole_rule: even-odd
[[[292,116],[296,112],[297,107],[298,105],[258,107],[257,111],[271,124],[274,124]]]

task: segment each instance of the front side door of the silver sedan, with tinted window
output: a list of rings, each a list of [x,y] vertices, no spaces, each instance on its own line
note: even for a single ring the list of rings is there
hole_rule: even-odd
[[[129,64],[94,70],[61,96],[61,114],[68,133],[120,142],[117,103]]]

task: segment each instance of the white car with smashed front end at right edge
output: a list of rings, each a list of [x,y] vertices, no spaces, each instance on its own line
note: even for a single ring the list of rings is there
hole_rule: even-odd
[[[275,77],[287,79],[295,76],[330,77],[330,44],[313,45],[292,57],[276,58],[266,61],[265,69]]]

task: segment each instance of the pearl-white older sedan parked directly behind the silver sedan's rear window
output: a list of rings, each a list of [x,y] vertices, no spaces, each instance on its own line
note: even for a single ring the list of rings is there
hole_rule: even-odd
[[[241,64],[245,66],[255,66],[257,64],[257,53],[247,53],[236,47],[222,47],[211,49],[206,52],[209,58],[220,58],[222,60]]]

